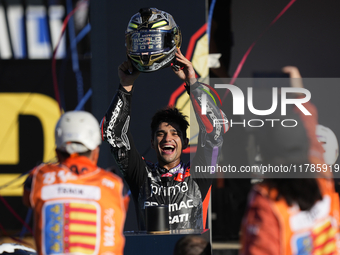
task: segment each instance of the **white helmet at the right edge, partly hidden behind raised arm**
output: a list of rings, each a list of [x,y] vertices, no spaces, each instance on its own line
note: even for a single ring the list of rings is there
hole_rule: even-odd
[[[322,147],[325,150],[323,157],[326,164],[333,165],[339,156],[339,145],[335,134],[328,127],[317,125],[316,136],[318,141],[322,143]]]

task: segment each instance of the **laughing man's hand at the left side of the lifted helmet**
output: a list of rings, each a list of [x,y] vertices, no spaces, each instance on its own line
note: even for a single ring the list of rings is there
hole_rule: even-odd
[[[120,84],[128,92],[132,90],[133,83],[138,78],[140,72],[133,68],[131,60],[124,61],[118,67],[118,76]]]

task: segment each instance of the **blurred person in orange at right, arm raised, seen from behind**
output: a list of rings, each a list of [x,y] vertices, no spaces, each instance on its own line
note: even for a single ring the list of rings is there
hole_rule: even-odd
[[[291,77],[298,72],[287,69]],[[298,83],[302,84],[295,80]],[[289,113],[300,124],[294,129],[269,128],[258,136],[263,164],[326,166],[316,136],[317,111],[310,102],[304,107],[312,115],[294,108]],[[240,254],[338,254],[339,196],[331,173],[306,176],[282,179],[273,174],[253,187],[242,222]]]

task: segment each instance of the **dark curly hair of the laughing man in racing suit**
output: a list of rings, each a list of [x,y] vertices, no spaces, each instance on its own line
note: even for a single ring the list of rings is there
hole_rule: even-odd
[[[162,122],[176,123],[183,134],[183,138],[187,138],[187,128],[189,122],[187,116],[183,115],[176,107],[166,107],[155,113],[151,121],[151,138],[153,138],[158,126]]]

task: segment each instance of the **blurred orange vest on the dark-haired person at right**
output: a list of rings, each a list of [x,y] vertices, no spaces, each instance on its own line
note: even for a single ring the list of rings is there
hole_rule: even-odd
[[[240,254],[339,253],[339,197],[331,179],[317,179],[323,199],[310,211],[275,200],[276,191],[256,185],[242,222]]]

